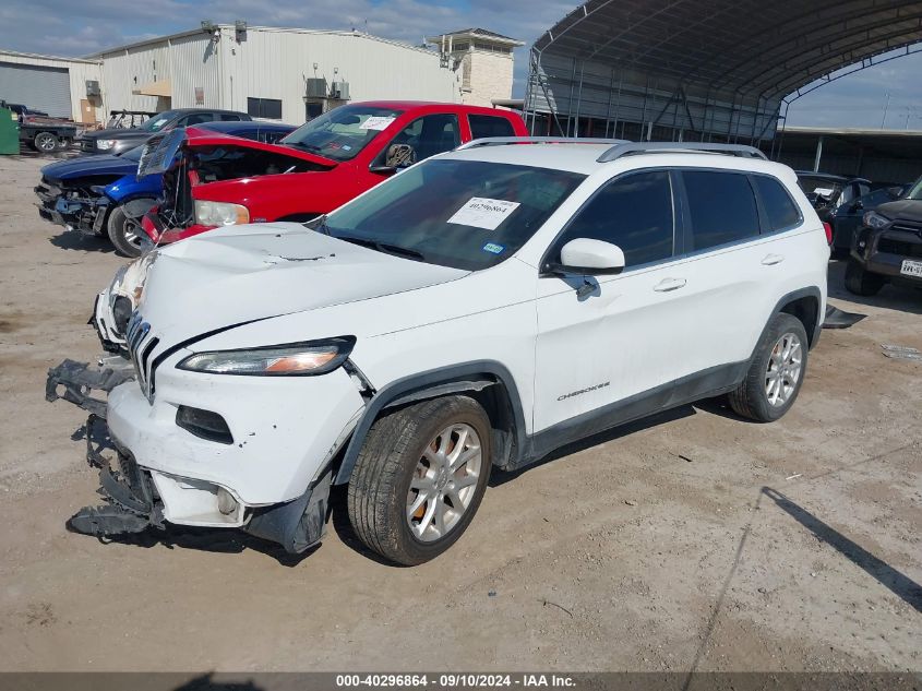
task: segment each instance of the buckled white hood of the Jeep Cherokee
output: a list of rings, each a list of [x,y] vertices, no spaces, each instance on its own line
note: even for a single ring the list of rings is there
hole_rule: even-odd
[[[454,281],[468,272],[291,223],[240,226],[157,251],[139,310],[161,342]]]

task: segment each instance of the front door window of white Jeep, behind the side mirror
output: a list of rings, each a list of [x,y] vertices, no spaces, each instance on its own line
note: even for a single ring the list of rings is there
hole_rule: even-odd
[[[672,187],[669,172],[635,172],[612,180],[576,214],[555,243],[589,238],[616,245],[626,267],[669,259],[674,247]]]

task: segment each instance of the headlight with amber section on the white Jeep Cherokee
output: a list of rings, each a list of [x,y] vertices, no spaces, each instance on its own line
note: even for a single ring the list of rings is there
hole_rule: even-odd
[[[355,345],[354,336],[342,336],[264,348],[196,353],[177,367],[208,374],[311,377],[335,370],[349,357]]]

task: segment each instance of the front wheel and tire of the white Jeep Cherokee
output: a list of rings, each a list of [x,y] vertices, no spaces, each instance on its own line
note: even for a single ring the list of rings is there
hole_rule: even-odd
[[[491,439],[487,413],[467,396],[424,401],[379,418],[349,480],[349,521],[359,539],[405,565],[448,549],[470,524],[487,490]],[[468,458],[452,475],[448,467],[458,443],[458,453]],[[441,466],[439,458],[445,456],[447,463]],[[455,487],[456,481],[467,484]],[[464,507],[459,515],[455,502]],[[439,516],[447,521],[442,531]]]

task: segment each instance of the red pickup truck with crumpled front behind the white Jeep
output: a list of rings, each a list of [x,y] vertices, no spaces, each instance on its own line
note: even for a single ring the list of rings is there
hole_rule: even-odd
[[[508,110],[390,100],[339,106],[277,144],[190,128],[142,226],[163,245],[219,226],[307,221],[463,142],[527,133]]]

